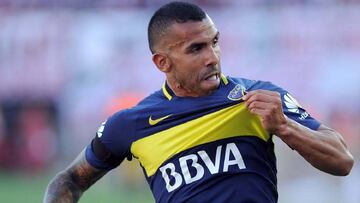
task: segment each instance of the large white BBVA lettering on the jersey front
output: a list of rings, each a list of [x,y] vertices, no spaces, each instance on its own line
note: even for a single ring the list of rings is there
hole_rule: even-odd
[[[223,147],[225,147],[225,153],[222,152]],[[199,159],[203,162],[199,162]],[[183,184],[187,185],[202,179],[205,170],[213,175],[228,172],[230,167],[235,167],[238,170],[246,168],[240,150],[235,143],[228,143],[225,146],[219,145],[216,148],[215,157],[209,157],[206,151],[201,150],[195,154],[180,157],[178,162],[180,169],[171,162],[159,168],[168,192],[176,190]],[[220,166],[223,167],[220,168]]]

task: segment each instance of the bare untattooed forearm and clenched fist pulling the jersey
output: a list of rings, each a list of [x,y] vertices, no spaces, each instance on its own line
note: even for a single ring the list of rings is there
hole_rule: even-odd
[[[277,135],[311,165],[338,176],[350,173],[354,159],[341,134],[324,124],[314,131],[287,118],[278,92],[255,90],[244,96],[251,113],[259,115],[264,128]]]

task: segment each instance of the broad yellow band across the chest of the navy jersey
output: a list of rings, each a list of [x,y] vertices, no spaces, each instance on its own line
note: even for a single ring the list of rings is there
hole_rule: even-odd
[[[256,136],[264,141],[270,135],[258,116],[251,114],[244,103],[190,120],[135,141],[132,154],[144,167],[147,176],[169,158],[192,147],[237,136]]]

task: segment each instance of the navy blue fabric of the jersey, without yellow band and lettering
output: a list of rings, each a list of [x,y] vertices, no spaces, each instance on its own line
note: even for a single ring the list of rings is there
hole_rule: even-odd
[[[132,156],[131,144],[133,142],[242,102],[237,100],[241,97],[237,87],[244,88],[246,91],[265,89],[279,92],[286,116],[310,129],[319,128],[320,123],[296,104],[286,90],[270,82],[233,77],[227,77],[227,79],[228,84],[221,83],[219,88],[209,96],[176,97],[166,86],[166,90],[172,95],[171,100],[167,99],[163,90],[159,90],[145,98],[137,106],[115,113],[105,122],[103,128],[99,128],[97,136],[112,153],[119,157],[117,164],[109,165],[99,160],[95,156],[91,144],[86,149],[87,161],[96,168],[106,170],[115,168],[124,158]],[[172,116],[159,124],[149,125],[150,116],[161,118],[169,114]],[[246,168],[241,169],[238,165],[233,164],[229,166],[228,171],[224,171],[224,153],[229,144],[233,144],[236,146],[236,150],[240,151]],[[211,162],[215,163],[216,150],[219,146],[222,147],[219,170],[217,173],[211,174],[209,167],[199,156],[199,151],[204,151],[210,157]],[[233,153],[228,159],[235,159],[233,157],[235,154]],[[189,155],[197,157],[194,166],[203,168],[204,174],[201,179],[186,184],[182,171],[184,166],[180,166],[179,160],[181,157]],[[164,174],[159,169],[151,177],[147,177],[145,174],[156,202],[277,202],[276,158],[272,139],[264,141],[249,135],[218,140],[176,154],[166,160],[162,166],[170,166],[168,164],[174,167],[174,172],[181,175],[182,183],[169,192],[166,188]],[[194,164],[191,161],[186,164],[190,177],[194,177],[198,169],[191,165]],[[169,170],[165,172],[170,178],[170,185],[174,185],[176,179]]]

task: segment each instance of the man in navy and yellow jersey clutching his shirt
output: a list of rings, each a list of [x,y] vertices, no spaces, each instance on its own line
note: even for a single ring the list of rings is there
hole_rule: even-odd
[[[347,175],[341,135],[269,82],[226,77],[219,32],[199,7],[173,2],[148,27],[161,90],[115,113],[49,184],[44,202],[76,202],[125,158],[138,159],[156,202],[277,202],[272,136],[314,167]]]

